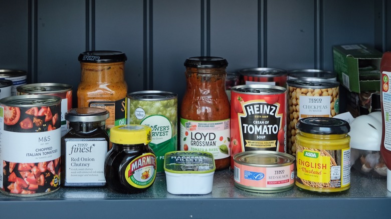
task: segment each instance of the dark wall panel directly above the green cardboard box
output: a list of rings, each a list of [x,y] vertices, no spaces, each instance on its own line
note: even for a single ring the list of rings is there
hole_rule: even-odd
[[[324,66],[333,70],[332,46],[374,44],[374,2],[372,0],[326,0],[324,5]]]

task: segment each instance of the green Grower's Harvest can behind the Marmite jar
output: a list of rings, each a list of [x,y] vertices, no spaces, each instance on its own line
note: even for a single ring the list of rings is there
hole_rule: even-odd
[[[152,128],[149,146],[156,154],[157,174],[164,174],[164,154],[177,149],[178,95],[160,90],[136,91],[128,94],[128,124]]]

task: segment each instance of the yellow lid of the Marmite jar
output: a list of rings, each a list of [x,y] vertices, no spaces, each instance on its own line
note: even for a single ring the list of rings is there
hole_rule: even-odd
[[[117,125],[110,128],[110,141],[118,144],[147,144],[152,140],[152,129],[142,124]]]

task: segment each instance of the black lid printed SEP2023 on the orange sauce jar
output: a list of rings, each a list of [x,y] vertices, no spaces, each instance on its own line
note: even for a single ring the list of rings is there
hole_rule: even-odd
[[[89,63],[111,63],[126,61],[126,54],[122,51],[96,50],[80,53],[78,60]]]

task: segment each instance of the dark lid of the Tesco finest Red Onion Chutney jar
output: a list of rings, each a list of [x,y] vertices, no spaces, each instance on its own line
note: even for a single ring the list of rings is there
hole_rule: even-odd
[[[71,108],[65,113],[65,119],[73,122],[104,121],[109,117],[109,111],[99,107]]]

